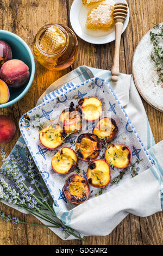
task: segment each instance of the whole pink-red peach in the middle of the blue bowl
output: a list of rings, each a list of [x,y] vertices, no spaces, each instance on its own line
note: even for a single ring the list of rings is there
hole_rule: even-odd
[[[9,87],[18,88],[24,86],[29,80],[29,68],[19,59],[11,59],[5,62],[0,71],[1,79]]]

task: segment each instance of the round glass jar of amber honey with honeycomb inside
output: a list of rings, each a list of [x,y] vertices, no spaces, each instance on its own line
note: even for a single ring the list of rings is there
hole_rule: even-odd
[[[45,68],[66,69],[77,57],[78,40],[65,25],[49,24],[37,32],[33,52],[36,60]]]

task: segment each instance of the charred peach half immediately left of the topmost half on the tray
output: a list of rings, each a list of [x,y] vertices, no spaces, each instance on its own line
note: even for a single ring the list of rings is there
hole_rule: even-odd
[[[74,107],[69,107],[60,114],[59,124],[66,133],[75,133],[82,129],[82,118]]]

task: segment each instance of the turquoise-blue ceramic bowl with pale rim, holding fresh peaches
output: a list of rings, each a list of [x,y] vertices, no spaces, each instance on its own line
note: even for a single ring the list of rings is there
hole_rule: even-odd
[[[35,74],[35,61],[29,46],[19,36],[9,32],[0,30],[0,39],[8,42],[12,50],[12,58],[22,60],[28,67],[30,72],[30,79],[27,84],[21,88],[10,88],[10,99],[5,104],[0,104],[0,108],[8,107],[18,100],[22,99],[32,86]]]

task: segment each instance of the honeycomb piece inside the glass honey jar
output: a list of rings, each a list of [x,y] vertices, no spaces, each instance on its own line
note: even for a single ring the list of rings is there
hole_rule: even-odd
[[[51,26],[40,39],[40,47],[42,51],[47,53],[55,53],[66,44],[66,35],[58,27]]]

